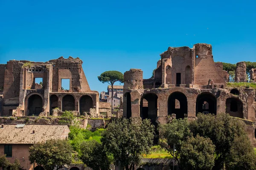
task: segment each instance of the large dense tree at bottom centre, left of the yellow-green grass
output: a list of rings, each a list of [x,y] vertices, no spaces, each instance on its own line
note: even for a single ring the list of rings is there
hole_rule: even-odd
[[[115,119],[102,133],[101,142],[113,155],[116,164],[126,170],[134,170],[153,144],[154,125],[150,120]]]

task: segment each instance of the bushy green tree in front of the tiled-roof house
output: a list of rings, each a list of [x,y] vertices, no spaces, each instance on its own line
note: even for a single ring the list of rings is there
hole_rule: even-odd
[[[48,140],[29,148],[29,161],[34,161],[45,170],[59,170],[71,163],[72,147],[67,140]]]

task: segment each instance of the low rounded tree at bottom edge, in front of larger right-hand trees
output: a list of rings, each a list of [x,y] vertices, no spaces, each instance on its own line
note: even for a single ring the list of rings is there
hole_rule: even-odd
[[[184,170],[211,170],[214,166],[215,145],[209,138],[192,136],[182,142],[180,165]]]

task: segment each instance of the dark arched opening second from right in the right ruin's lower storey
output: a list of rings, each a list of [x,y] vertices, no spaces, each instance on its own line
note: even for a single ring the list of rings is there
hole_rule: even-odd
[[[196,114],[198,113],[217,113],[217,99],[211,93],[199,94],[196,99]]]

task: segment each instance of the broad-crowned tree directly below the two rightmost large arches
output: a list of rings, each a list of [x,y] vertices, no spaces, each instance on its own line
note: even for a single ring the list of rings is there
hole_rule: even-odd
[[[247,135],[244,122],[225,113],[218,113],[216,116],[198,114],[197,119],[190,122],[189,129],[193,136],[198,134],[212,140],[215,145],[216,170],[223,167],[235,137]]]

